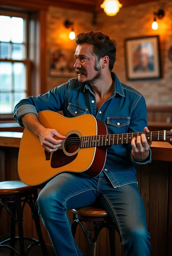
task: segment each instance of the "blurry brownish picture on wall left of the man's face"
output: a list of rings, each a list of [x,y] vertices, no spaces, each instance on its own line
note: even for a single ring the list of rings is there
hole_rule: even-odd
[[[76,77],[75,50],[49,50],[49,76]]]

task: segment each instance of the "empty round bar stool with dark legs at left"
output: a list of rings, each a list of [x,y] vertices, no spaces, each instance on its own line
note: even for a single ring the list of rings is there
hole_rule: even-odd
[[[4,240],[0,243],[1,247],[6,247],[11,250],[11,256],[20,255],[27,256],[30,249],[34,245],[40,245],[42,250],[42,255],[48,256],[47,248],[42,237],[40,219],[38,215],[37,208],[35,206],[35,202],[37,200],[37,188],[27,186],[21,181],[4,181],[0,182],[0,214],[2,208],[4,207],[10,214],[10,238]],[[22,203],[22,204],[21,204]],[[23,227],[22,227],[22,218],[23,218],[23,210],[25,204],[28,203],[32,212],[32,218],[34,219],[34,223],[36,226],[36,231],[38,235],[38,240],[33,239],[31,237],[24,237],[23,235]],[[15,236],[15,226],[18,227],[19,236]],[[20,252],[15,250],[15,243],[19,239]],[[25,252],[24,248],[24,240],[28,240],[32,242],[29,245]],[[6,245],[9,243],[9,245]]]

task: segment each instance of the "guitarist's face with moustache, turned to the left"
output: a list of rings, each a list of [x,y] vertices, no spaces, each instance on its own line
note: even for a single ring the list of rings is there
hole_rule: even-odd
[[[78,74],[79,82],[91,84],[101,76],[101,70],[95,69],[96,58],[93,53],[93,44],[78,45],[75,58],[74,68]]]

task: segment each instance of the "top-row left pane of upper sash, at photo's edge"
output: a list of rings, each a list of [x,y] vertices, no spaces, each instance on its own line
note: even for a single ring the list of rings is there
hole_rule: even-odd
[[[0,41],[10,42],[11,17],[0,15]]]

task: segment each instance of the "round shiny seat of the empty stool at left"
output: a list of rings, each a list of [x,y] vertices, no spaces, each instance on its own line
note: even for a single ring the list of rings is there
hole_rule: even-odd
[[[9,180],[0,182],[0,195],[13,195],[25,192],[34,192],[36,187],[31,187],[21,180]]]

